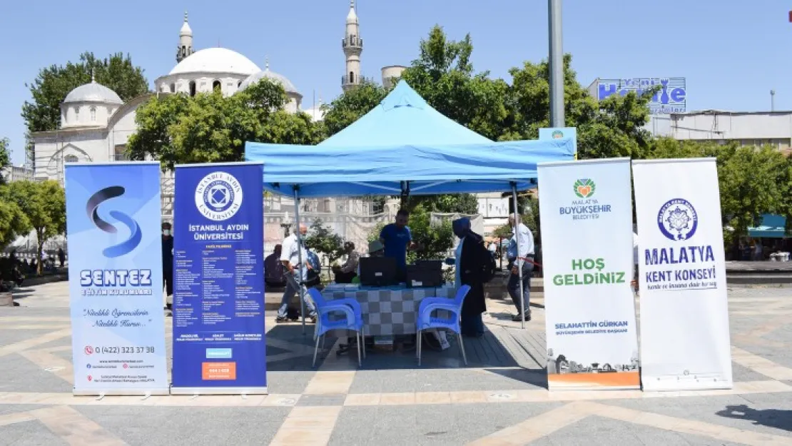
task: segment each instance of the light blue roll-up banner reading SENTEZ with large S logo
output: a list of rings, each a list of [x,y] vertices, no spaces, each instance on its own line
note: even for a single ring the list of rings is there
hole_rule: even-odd
[[[167,395],[158,162],[66,165],[74,395]]]

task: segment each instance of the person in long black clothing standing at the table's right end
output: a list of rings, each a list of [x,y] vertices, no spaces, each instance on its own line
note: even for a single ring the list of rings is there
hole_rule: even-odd
[[[484,334],[482,313],[487,311],[483,276],[489,265],[487,256],[490,254],[484,247],[482,236],[470,230],[470,219],[456,219],[451,224],[454,234],[459,237],[455,256],[455,285],[457,289],[462,285],[470,285],[470,292],[462,304],[462,334],[481,337]]]

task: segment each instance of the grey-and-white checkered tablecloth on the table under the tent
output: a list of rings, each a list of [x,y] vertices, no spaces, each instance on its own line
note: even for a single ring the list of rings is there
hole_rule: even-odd
[[[440,288],[352,288],[349,286],[328,285],[322,292],[327,300],[356,299],[360,303],[366,334],[372,336],[392,336],[394,334],[415,334],[418,305],[425,297],[444,297],[453,299],[454,287]],[[440,313],[440,311],[438,311]],[[446,311],[440,317],[450,317]]]

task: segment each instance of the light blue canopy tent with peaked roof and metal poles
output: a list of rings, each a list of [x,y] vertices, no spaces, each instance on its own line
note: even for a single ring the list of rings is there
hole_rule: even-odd
[[[572,139],[490,141],[404,81],[318,146],[245,144],[245,158],[264,163],[265,190],[294,196],[298,224],[301,197],[512,192],[516,209],[517,190],[535,187],[539,162],[571,161],[575,151]]]

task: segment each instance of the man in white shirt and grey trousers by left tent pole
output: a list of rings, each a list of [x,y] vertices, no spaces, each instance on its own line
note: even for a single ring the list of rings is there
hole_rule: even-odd
[[[303,236],[304,240],[305,235],[308,233],[308,227],[300,223],[299,233]],[[302,265],[300,265],[299,261],[301,256],[303,258]],[[280,253],[280,261],[286,268],[286,272],[284,273],[286,289],[284,290],[283,298],[280,299],[280,308],[278,308],[278,316],[275,318],[275,322],[286,322],[291,298],[293,298],[301,288],[305,288],[303,283],[308,280],[308,251],[305,249],[305,246],[301,246],[298,242],[296,233],[284,239],[284,244]],[[303,291],[303,300],[309,312],[308,317],[313,322],[316,322],[316,309],[314,308],[314,303],[310,301],[307,290]]]

